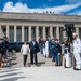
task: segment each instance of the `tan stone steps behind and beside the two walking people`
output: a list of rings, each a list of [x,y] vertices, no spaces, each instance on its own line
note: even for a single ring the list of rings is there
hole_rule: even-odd
[[[21,55],[21,53],[16,53],[16,60],[12,60],[12,63],[16,64],[12,65],[12,67],[23,67],[23,55]],[[54,66],[54,63],[52,62],[52,58],[45,58],[42,54],[38,53],[38,65]],[[27,66],[30,66],[30,55],[28,55]]]

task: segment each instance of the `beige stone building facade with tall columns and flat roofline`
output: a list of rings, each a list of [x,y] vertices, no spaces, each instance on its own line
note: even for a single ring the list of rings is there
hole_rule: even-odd
[[[11,42],[24,42],[50,35],[62,41],[65,36],[62,29],[67,23],[75,24],[73,32],[81,38],[81,16],[78,15],[0,12],[0,38],[6,36]]]

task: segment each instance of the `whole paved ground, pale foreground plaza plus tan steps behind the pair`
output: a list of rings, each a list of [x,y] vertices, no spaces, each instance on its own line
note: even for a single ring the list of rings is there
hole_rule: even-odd
[[[44,58],[41,54],[38,54],[39,67],[23,67],[22,55],[17,53],[16,57],[12,62],[15,65],[0,69],[0,81],[81,81],[81,71],[55,67],[51,58]]]

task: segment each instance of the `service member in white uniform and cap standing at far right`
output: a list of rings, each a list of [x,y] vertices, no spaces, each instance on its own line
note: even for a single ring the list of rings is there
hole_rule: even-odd
[[[73,33],[72,37],[73,37],[73,56],[76,59],[76,69],[81,69],[81,58],[80,58],[81,40],[78,38],[77,33]]]

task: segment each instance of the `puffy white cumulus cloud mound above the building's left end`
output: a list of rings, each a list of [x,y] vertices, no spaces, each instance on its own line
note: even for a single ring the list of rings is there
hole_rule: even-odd
[[[6,2],[3,8],[3,12],[29,12],[27,4],[17,2],[13,5],[13,2]]]

